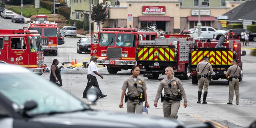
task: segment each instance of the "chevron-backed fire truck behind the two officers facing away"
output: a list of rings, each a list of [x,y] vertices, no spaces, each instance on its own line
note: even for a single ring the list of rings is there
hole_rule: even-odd
[[[226,79],[226,71],[231,66],[233,59],[237,60],[237,65],[241,68],[242,81],[242,60],[241,56],[245,56],[246,51],[242,51],[239,39],[227,39],[225,41],[196,42],[189,50],[190,76],[192,76],[192,84],[197,84],[196,66],[203,61],[204,56],[209,57],[213,71],[216,73],[212,76],[212,80]]]

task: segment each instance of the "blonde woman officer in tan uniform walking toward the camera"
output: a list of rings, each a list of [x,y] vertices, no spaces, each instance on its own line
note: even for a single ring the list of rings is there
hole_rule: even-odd
[[[178,118],[178,110],[180,108],[180,100],[176,99],[175,97],[180,93],[184,98],[184,107],[188,106],[187,98],[185,90],[182,86],[180,79],[174,77],[174,72],[171,67],[165,68],[165,75],[167,76],[164,78],[160,85],[158,86],[158,90],[156,92],[156,97],[154,100],[154,106],[157,107],[157,102],[161,97],[161,102],[163,102],[163,111],[164,111],[164,118]],[[162,96],[162,90],[164,89],[164,96]]]

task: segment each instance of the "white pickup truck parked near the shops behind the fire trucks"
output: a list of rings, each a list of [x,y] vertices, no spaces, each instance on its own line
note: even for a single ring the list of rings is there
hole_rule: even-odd
[[[201,27],[201,35],[203,40],[212,39],[213,34],[216,36],[216,40],[219,40],[221,36],[224,36],[226,33],[225,30],[216,30],[209,26],[202,26]],[[198,28],[190,33],[190,36],[197,38],[198,37]]]

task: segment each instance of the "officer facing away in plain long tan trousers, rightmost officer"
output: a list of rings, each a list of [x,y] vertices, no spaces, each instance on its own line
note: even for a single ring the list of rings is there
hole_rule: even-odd
[[[228,93],[228,103],[232,104],[234,97],[234,90],[236,93],[236,105],[239,104],[239,77],[241,75],[241,68],[236,65],[236,60],[232,60],[231,65],[228,68],[226,77],[229,79],[229,93]]]

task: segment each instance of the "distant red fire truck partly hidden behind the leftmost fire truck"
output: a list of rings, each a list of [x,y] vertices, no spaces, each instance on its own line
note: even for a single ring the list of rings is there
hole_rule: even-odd
[[[58,55],[58,47],[57,47],[57,41],[58,41],[58,27],[56,24],[30,24],[28,27],[28,30],[37,30],[38,33],[41,35],[42,39],[42,48],[44,52],[48,52],[49,54],[52,54],[53,56]]]

